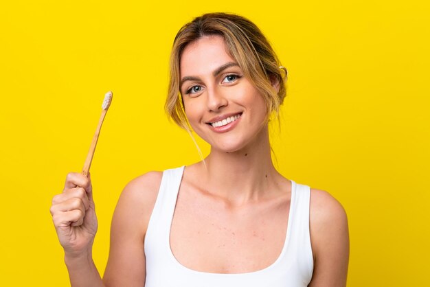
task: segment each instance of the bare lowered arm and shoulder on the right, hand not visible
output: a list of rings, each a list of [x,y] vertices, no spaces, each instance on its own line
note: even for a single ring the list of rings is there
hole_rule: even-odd
[[[348,219],[341,204],[322,190],[310,195],[314,271],[309,287],[345,287],[349,260]]]

